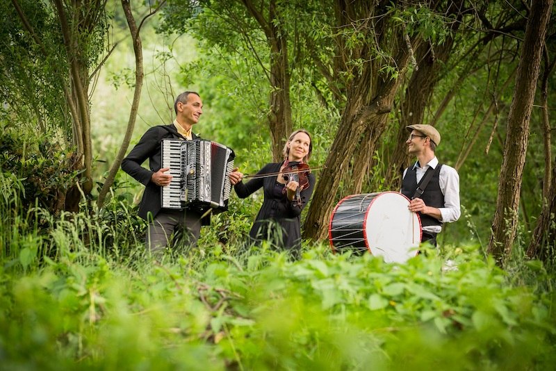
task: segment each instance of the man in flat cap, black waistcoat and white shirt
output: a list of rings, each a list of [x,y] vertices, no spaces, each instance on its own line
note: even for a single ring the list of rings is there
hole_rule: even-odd
[[[416,124],[407,126],[407,149],[417,161],[404,170],[402,193],[411,199],[409,211],[418,213],[423,226],[421,242],[436,247],[436,235],[443,223],[459,219],[459,175],[448,165],[439,163],[436,146],[440,133],[433,126]]]

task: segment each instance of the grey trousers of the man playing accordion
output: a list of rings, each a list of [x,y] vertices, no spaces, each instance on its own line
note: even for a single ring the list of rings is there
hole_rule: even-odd
[[[162,209],[149,223],[145,242],[151,253],[163,252],[170,242],[181,238],[189,245],[197,245],[201,234],[201,214],[190,210]]]

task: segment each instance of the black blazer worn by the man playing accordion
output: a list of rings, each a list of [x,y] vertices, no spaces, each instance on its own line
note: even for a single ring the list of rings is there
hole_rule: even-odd
[[[152,174],[161,170],[161,142],[164,138],[183,138],[177,132],[174,124],[153,126],[139,140],[137,145],[122,160],[122,170],[133,176],[136,181],[145,186],[145,192],[139,205],[138,215],[147,220],[147,214],[156,217],[161,211],[161,187],[151,181]],[[193,134],[193,139],[198,138]],[[142,167],[142,163],[149,159],[149,169]],[[208,220],[204,220],[206,225]]]

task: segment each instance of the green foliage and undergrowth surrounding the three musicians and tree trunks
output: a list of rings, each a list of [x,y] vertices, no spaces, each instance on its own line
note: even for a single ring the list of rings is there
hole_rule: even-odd
[[[58,46],[63,40],[48,6],[54,2],[12,3],[18,2],[36,15],[36,29],[51,58],[62,58],[57,53],[62,53]],[[267,74],[272,51],[244,3],[254,1],[189,2],[193,8],[168,1],[167,23],[152,18],[143,24],[145,90],[135,141],[150,126],[172,121],[179,92],[196,90],[204,114],[195,133],[232,147],[245,174],[271,160],[268,100],[276,86],[269,84]],[[256,3],[263,7],[275,1]],[[441,64],[430,76],[436,85],[422,119],[437,120],[443,138],[439,158],[458,167],[463,213],[461,220],[443,227],[438,250],[428,249],[406,264],[386,264],[370,254],[334,255],[325,240],[304,241],[298,260],[270,246],[250,247],[245,238],[262,195],[245,200],[233,196],[229,211],[203,228],[195,249],[178,245],[155,259],[145,252],[145,222],[136,212],[142,186],[122,172],[102,208],[91,202],[93,192],[82,198],[79,212],[63,212],[67,190],[74,185],[80,192],[81,186],[81,174],[72,170],[72,120],[60,103],[67,79],[52,74],[52,59],[41,59],[36,45],[28,47],[31,38],[22,33],[10,4],[0,6],[10,15],[0,28],[9,36],[0,42],[0,63],[6,67],[0,77],[3,370],[553,368],[554,248],[547,247],[552,260],[524,256],[543,203],[539,186],[546,162],[539,148],[546,133],[537,108],[531,116],[515,248],[504,270],[485,252],[525,25],[524,3],[461,1],[469,6],[463,19],[439,17],[446,10],[442,1],[436,13],[420,5],[397,8],[395,2],[334,2],[340,3],[384,5],[390,22],[401,28],[408,24],[408,36],[421,33],[434,45],[438,54],[433,57]],[[153,4],[158,1],[133,8],[137,19]],[[330,149],[348,103],[347,83],[371,59],[391,57],[386,48],[373,49],[369,60],[357,58],[361,45],[372,43],[356,32],[366,22],[358,19],[352,28],[338,27],[334,12],[327,12],[330,4],[278,1],[274,13],[263,12],[275,17],[279,35],[287,35],[291,119],[294,129],[304,127],[313,135],[312,166],[329,156],[344,156]],[[88,101],[97,184],[104,182],[120,145],[135,83],[119,1],[107,1],[105,10],[97,33],[88,34],[94,40],[87,54],[92,62],[108,53],[100,49],[106,42],[100,35],[108,29],[117,48],[103,61],[103,69],[95,71],[99,74],[91,80],[94,91]],[[504,32],[489,35],[483,28],[489,22]],[[461,29],[448,29],[454,24]],[[154,26],[164,33],[155,33]],[[236,33],[238,29],[245,34]],[[393,32],[387,31],[384,35]],[[341,40],[347,42],[344,47],[336,44]],[[393,47],[392,40],[386,38],[387,46]],[[441,48],[449,42],[455,46],[448,49],[450,58],[443,58]],[[547,45],[548,71],[554,49]],[[403,46],[411,48],[411,42]],[[347,69],[338,68],[340,49],[350,57],[342,61]],[[397,188],[386,181],[400,147],[397,131],[411,117],[404,106],[414,94],[411,76],[426,67],[420,65],[425,56],[414,51],[423,58],[407,66],[384,130],[363,135],[376,142],[376,150],[369,154],[362,192]],[[399,71],[387,72],[395,77]],[[553,79],[548,87],[548,101],[554,101]],[[350,160],[347,174],[356,165]],[[321,173],[316,175],[320,180]],[[350,179],[343,179],[333,197],[349,194],[351,186]]]

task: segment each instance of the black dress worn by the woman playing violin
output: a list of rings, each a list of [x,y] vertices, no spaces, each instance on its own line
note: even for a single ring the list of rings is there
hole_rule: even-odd
[[[282,163],[268,163],[259,174],[277,173]],[[315,176],[309,174],[309,186],[301,191],[301,206],[296,201],[288,200],[282,192],[284,184],[278,183],[277,176],[252,179],[247,183],[239,182],[234,186],[238,197],[244,199],[259,188],[263,188],[264,201],[249,233],[255,242],[270,240],[277,247],[291,249],[301,246],[301,211],[313,193]]]

